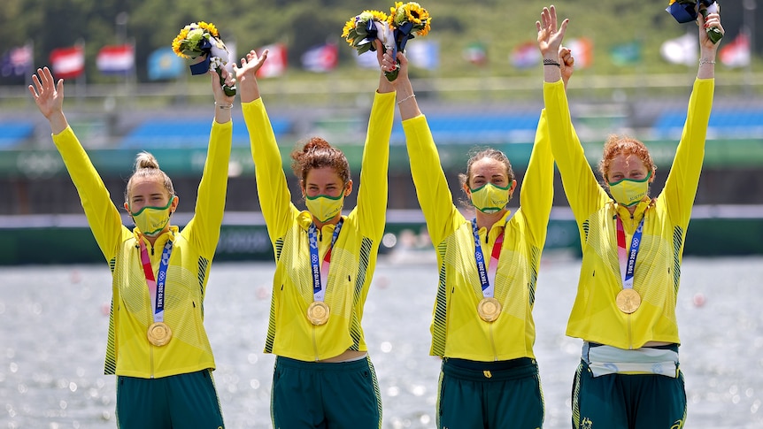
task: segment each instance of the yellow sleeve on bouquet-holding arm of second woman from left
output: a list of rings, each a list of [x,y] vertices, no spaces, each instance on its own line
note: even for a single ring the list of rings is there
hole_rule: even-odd
[[[394,92],[375,94],[360,167],[358,217],[364,219],[360,227],[368,236],[380,239],[387,213],[389,136],[395,117],[395,97]]]

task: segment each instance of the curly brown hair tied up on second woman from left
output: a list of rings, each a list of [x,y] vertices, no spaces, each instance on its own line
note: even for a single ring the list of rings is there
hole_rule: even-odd
[[[350,163],[342,150],[328,144],[320,137],[311,137],[305,142],[297,143],[297,149],[291,151],[291,169],[304,183],[307,173],[313,168],[331,167],[339,174],[343,185],[350,181]]]

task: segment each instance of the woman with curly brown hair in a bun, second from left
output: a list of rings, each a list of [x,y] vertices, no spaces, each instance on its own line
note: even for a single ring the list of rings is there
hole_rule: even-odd
[[[291,202],[281,153],[259,94],[266,61],[246,56],[238,81],[260,208],[275,253],[266,353],[276,355],[274,427],[374,428],[382,402],[361,325],[384,233],[395,87],[380,73],[360,170],[358,204],[341,150],[312,137],[291,157],[306,211]]]

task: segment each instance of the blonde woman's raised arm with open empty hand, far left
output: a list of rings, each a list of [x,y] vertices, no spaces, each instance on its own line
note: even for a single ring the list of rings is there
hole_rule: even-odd
[[[53,142],[64,159],[66,171],[69,172],[80,195],[90,229],[104,257],[110,261],[117,254],[123,234],[129,234],[129,231],[122,226],[119,210],[112,202],[104,181],[66,121],[64,80],[54,81],[50,69],[44,67],[37,69],[37,74],[32,76],[32,82],[29,92],[35,99],[37,108],[50,122]]]

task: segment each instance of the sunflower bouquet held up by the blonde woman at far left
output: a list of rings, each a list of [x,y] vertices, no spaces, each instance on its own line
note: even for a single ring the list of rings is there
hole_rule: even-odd
[[[173,51],[178,57],[197,60],[190,65],[191,74],[214,71],[220,74],[220,85],[227,96],[235,96],[235,85],[228,86],[221,69],[227,65],[230,53],[220,39],[220,32],[211,22],[193,22],[183,27],[173,40]]]

